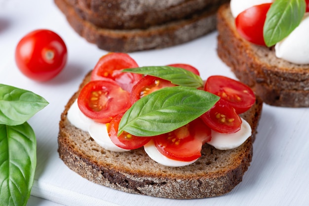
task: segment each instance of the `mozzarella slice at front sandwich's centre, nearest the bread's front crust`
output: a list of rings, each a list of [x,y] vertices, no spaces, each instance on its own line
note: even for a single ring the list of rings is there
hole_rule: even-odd
[[[186,165],[190,165],[193,162],[195,162],[197,159],[191,161],[191,162],[183,162],[183,161],[178,161],[178,160],[172,160],[164,155],[162,155],[157,148],[154,145],[154,140],[150,140],[147,144],[144,145],[144,150],[148,154],[148,156],[153,159],[155,162],[168,166],[168,167],[183,167]]]

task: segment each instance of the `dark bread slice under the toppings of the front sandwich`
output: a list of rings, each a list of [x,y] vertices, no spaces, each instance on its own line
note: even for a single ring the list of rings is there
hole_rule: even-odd
[[[231,150],[218,150],[205,144],[202,156],[195,163],[174,168],[154,162],[143,148],[128,152],[105,150],[87,132],[68,121],[68,109],[89,79],[90,73],[65,106],[59,123],[58,152],[71,170],[113,189],[172,199],[220,196],[242,181],[252,159],[252,143],[263,104],[260,98],[257,97],[250,110],[241,114],[252,127],[252,136],[242,145]]]

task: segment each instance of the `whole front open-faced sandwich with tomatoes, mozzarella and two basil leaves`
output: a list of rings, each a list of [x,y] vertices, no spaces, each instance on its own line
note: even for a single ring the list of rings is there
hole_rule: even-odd
[[[82,177],[127,193],[220,196],[250,165],[262,104],[231,78],[109,53],[65,106],[58,152]]]

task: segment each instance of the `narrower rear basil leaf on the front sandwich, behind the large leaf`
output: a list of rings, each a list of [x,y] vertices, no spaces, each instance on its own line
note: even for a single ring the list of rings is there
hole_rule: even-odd
[[[123,69],[122,71],[156,76],[161,79],[168,80],[173,84],[184,87],[199,88],[204,85],[204,82],[199,75],[194,74],[192,71],[188,71],[186,69],[177,67],[153,66],[153,67]]]

